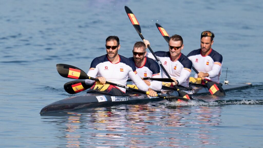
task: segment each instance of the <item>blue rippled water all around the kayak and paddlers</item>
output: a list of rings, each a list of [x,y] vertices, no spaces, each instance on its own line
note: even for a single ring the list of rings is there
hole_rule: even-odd
[[[251,82],[218,102],[150,102],[40,116],[71,95],[55,65],[88,71],[105,54],[105,39],[120,38],[130,57],[140,37],[124,6],[137,17],[154,51],[168,50],[155,23],[184,39],[187,55],[200,33],[215,33],[230,83]],[[262,1],[0,1],[0,147],[262,147]],[[84,92],[83,92],[84,93]],[[81,93],[80,93],[81,94]],[[213,100],[211,96],[196,99]]]

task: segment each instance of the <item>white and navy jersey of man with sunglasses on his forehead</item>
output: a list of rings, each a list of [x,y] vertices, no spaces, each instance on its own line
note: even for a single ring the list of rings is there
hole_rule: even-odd
[[[209,74],[208,77],[205,77],[206,79],[219,83],[222,71],[222,55],[211,49],[207,56],[202,56],[200,48],[198,50],[191,51],[187,57],[192,61],[193,66],[198,72],[205,72]],[[195,74],[195,77],[197,78],[198,75]]]

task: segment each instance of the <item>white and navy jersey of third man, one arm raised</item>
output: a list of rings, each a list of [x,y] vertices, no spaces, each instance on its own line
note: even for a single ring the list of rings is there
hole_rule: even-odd
[[[179,82],[178,85],[189,87],[192,62],[183,53],[180,53],[179,59],[175,62],[171,60],[169,51],[156,51],[154,53],[170,77],[175,78]],[[155,60],[151,53],[147,53],[146,56]],[[163,78],[168,78],[163,70],[161,70],[161,74]]]

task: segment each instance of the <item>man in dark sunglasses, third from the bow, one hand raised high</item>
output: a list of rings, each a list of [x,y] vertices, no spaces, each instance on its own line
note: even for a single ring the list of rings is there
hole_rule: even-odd
[[[150,43],[145,40],[145,44],[147,45]],[[170,37],[168,52],[157,51],[154,53],[170,75],[171,79],[175,81],[175,83],[173,83],[174,85],[189,87],[189,76],[191,74],[192,62],[181,53],[183,48],[183,38],[175,34]],[[146,56],[155,60],[151,53],[148,53]],[[163,78],[168,78],[163,70],[161,73]]]

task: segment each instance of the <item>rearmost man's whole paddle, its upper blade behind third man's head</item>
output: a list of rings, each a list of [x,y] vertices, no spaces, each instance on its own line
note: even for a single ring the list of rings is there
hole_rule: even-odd
[[[165,29],[158,23],[155,23],[156,27],[159,29],[160,33],[162,34],[162,36],[164,37],[165,41],[169,44],[169,35],[168,33],[165,31]],[[192,69],[198,73],[198,71],[192,67]],[[225,96],[226,93],[224,91],[224,89],[217,83],[215,82],[208,82],[207,80],[203,79],[203,81],[206,83],[209,92],[212,95],[216,95],[216,96]]]

